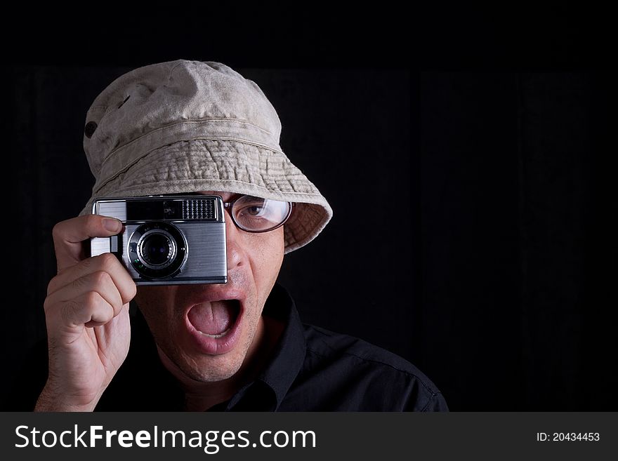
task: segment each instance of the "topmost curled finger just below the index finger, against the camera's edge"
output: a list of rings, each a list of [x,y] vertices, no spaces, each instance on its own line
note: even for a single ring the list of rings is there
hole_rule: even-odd
[[[106,272],[112,278],[114,286],[120,293],[122,304],[131,301],[136,295],[136,283],[131,278],[131,274],[126,271],[121,262],[112,253],[86,258],[83,261],[68,267],[63,272],[55,276],[48,284],[47,294],[51,295],[74,281],[81,279],[89,274],[96,272]]]

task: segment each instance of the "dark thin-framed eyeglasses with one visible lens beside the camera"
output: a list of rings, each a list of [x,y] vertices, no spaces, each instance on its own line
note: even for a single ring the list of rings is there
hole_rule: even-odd
[[[224,201],[223,206],[230,210],[234,224],[245,232],[268,232],[288,220],[294,203],[243,195]]]

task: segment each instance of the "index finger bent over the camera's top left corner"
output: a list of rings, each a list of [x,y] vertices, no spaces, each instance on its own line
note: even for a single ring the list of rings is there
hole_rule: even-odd
[[[100,215],[84,215],[58,222],[52,231],[58,272],[84,259],[83,241],[91,237],[112,236],[121,230],[119,220]]]

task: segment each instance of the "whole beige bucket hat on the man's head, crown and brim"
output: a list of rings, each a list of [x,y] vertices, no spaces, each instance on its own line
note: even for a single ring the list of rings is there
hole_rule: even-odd
[[[329,203],[279,146],[281,122],[261,89],[219,62],[176,60],[134,69],[86,115],[84,151],[98,197],[204,190],[296,203],[285,252],[315,239]]]

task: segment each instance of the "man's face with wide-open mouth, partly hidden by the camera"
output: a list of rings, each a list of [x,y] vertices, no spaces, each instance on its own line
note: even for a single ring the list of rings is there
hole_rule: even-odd
[[[223,201],[238,195],[203,193]],[[229,214],[225,222],[228,283],[139,286],[136,295],[164,359],[199,382],[230,378],[256,350],[262,309],[283,261],[283,227],[253,234],[236,227]]]

